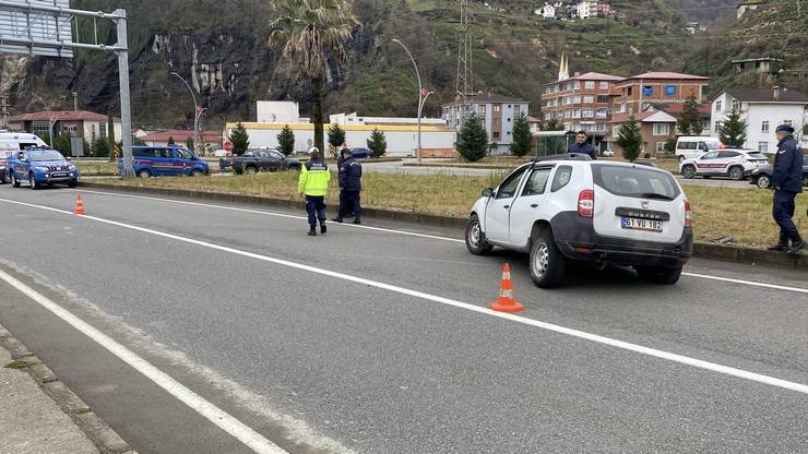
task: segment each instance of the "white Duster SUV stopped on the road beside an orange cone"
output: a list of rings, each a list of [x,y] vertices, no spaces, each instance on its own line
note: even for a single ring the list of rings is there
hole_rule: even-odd
[[[466,247],[530,252],[538,287],[561,284],[570,261],[633,266],[675,284],[693,249],[690,203],[674,176],[641,164],[550,156],[513,170],[472,207]]]

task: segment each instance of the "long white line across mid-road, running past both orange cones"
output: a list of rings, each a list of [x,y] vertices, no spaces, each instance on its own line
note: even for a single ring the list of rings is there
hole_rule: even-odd
[[[52,212],[62,213],[62,214],[67,214],[67,215],[73,216],[73,214],[71,212],[63,211],[63,210],[51,208],[49,206],[41,206],[41,205],[32,204],[32,203],[10,201],[10,200],[5,200],[5,199],[0,199],[0,201],[9,202],[9,203],[14,203],[14,204],[23,205],[23,206],[29,206],[29,207],[33,207],[33,208],[40,208],[40,210],[52,211]],[[154,236],[157,236],[157,237],[168,238],[168,239],[171,239],[171,240],[175,240],[175,241],[186,242],[186,243],[190,243],[190,244],[197,244],[197,246],[201,246],[201,247],[209,248],[209,249],[214,249],[214,250],[222,251],[222,252],[227,252],[227,253],[231,253],[231,254],[236,254],[236,255],[241,255],[241,256],[246,256],[246,258],[250,258],[250,259],[254,259],[254,260],[259,260],[259,261],[263,261],[263,262],[274,263],[274,264],[277,264],[277,265],[282,265],[282,266],[287,266],[287,267],[290,267],[290,268],[307,271],[307,272],[319,274],[319,275],[322,275],[322,276],[329,276],[329,277],[334,277],[334,278],[337,278],[337,279],[348,280],[348,282],[353,282],[353,283],[356,283],[356,284],[361,284],[361,285],[368,286],[368,287],[376,287],[376,288],[379,288],[379,289],[382,289],[382,290],[388,290],[388,291],[392,291],[392,292],[396,292],[396,294],[401,294],[401,295],[406,295],[406,296],[411,296],[411,297],[423,299],[423,300],[427,300],[427,301],[438,302],[438,303],[441,303],[441,304],[451,306],[451,307],[454,307],[454,308],[459,308],[459,309],[464,309],[464,310],[472,311],[472,312],[482,313],[484,315],[496,316],[496,318],[499,318],[499,319],[504,319],[504,320],[509,320],[509,321],[512,321],[512,322],[522,323],[522,324],[525,324],[525,325],[528,325],[528,326],[535,326],[535,327],[538,327],[538,328],[542,328],[542,330],[551,331],[554,333],[565,334],[565,335],[568,335],[568,336],[578,337],[578,338],[590,340],[590,342],[594,342],[594,343],[597,343],[597,344],[608,345],[608,346],[620,348],[620,349],[623,349],[623,350],[629,350],[629,351],[634,351],[634,353],[642,354],[642,355],[647,355],[647,356],[651,356],[651,357],[654,357],[654,358],[660,358],[660,359],[664,359],[664,360],[668,360],[668,361],[673,361],[673,362],[678,362],[678,363],[681,363],[681,365],[692,366],[692,367],[696,367],[696,368],[705,369],[705,370],[710,370],[710,371],[717,372],[717,373],[723,373],[725,375],[730,375],[730,377],[735,377],[735,378],[739,378],[739,379],[744,379],[744,380],[750,380],[750,381],[753,381],[753,382],[763,383],[763,384],[768,384],[768,385],[771,385],[771,386],[782,387],[782,389],[785,389],[785,390],[791,390],[791,391],[796,391],[798,393],[808,394],[808,384],[791,382],[791,381],[787,381],[787,380],[776,379],[774,377],[763,375],[763,374],[760,374],[760,373],[750,372],[750,371],[746,371],[746,370],[742,370],[742,369],[733,368],[733,367],[729,367],[729,366],[723,366],[723,365],[718,365],[718,363],[715,363],[715,362],[704,361],[704,360],[701,360],[701,359],[690,358],[690,357],[682,356],[682,355],[677,355],[677,354],[672,354],[672,353],[668,353],[668,351],[657,350],[655,348],[644,347],[642,345],[631,344],[631,343],[623,342],[623,340],[617,340],[617,339],[613,339],[610,337],[605,337],[605,336],[601,336],[601,335],[597,335],[597,334],[587,333],[587,332],[584,332],[584,331],[573,330],[573,328],[569,328],[569,327],[566,327],[566,326],[556,325],[556,324],[552,324],[552,323],[546,323],[546,322],[542,322],[542,321],[538,321],[538,320],[528,319],[528,318],[525,318],[525,316],[513,315],[513,314],[503,313],[503,312],[496,312],[496,311],[492,311],[492,310],[490,310],[488,308],[475,306],[475,304],[472,304],[472,303],[467,303],[467,302],[463,302],[463,301],[459,301],[459,300],[454,300],[454,299],[450,299],[450,298],[439,297],[439,296],[436,296],[436,295],[430,295],[430,294],[426,294],[426,292],[418,291],[418,290],[412,290],[412,289],[408,289],[408,288],[399,287],[399,286],[394,286],[394,285],[391,285],[391,284],[384,284],[384,283],[380,283],[380,282],[377,282],[377,280],[370,280],[370,279],[361,278],[361,277],[350,276],[350,275],[347,275],[347,274],[337,273],[337,272],[333,272],[333,271],[329,271],[329,270],[324,270],[324,268],[319,268],[319,267],[311,266],[311,265],[305,265],[305,264],[301,264],[301,263],[290,262],[290,261],[283,260],[283,259],[275,259],[275,258],[272,258],[272,256],[269,256],[269,255],[261,255],[261,254],[257,254],[254,252],[247,252],[247,251],[242,251],[240,249],[228,248],[226,246],[219,246],[219,244],[215,244],[215,243],[211,243],[211,242],[206,242],[206,241],[194,240],[193,238],[180,237],[178,235],[166,234],[166,232],[158,231],[158,230],[152,230],[152,229],[148,229],[148,228],[138,227],[138,226],[134,226],[134,225],[131,225],[131,224],[119,223],[119,222],[116,222],[116,220],[104,219],[104,218],[95,217],[95,216],[81,216],[81,217],[82,218],[85,218],[85,219],[91,219],[91,220],[95,220],[95,222],[98,222],[98,223],[103,223],[103,224],[108,224],[108,225],[112,225],[112,226],[118,226],[118,227],[127,228],[127,229],[130,229],[130,230],[141,231],[143,234],[148,234],[148,235],[154,235]]]

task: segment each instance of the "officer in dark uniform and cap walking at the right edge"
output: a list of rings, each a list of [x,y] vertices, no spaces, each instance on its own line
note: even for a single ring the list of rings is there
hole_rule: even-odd
[[[793,217],[795,199],[803,192],[803,148],[797,145],[797,140],[793,135],[794,128],[791,126],[781,124],[775,133],[779,142],[772,172],[774,189],[772,215],[780,226],[780,242],[769,250],[798,254],[805,248],[805,241],[799,236]]]

